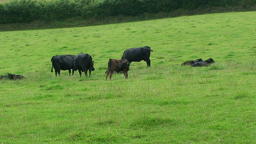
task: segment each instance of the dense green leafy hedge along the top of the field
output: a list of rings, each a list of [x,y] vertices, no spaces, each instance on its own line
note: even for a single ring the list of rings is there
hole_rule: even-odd
[[[143,13],[173,12],[199,6],[239,6],[247,8],[256,0],[12,0],[0,4],[0,23],[137,16]]]

